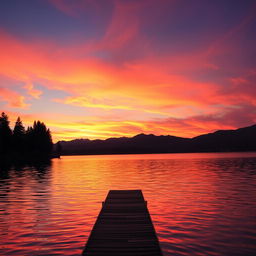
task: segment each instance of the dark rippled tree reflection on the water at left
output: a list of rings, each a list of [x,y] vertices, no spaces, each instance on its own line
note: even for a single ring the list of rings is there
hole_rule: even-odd
[[[1,165],[1,255],[33,255],[35,238],[49,212],[50,170],[50,161]]]

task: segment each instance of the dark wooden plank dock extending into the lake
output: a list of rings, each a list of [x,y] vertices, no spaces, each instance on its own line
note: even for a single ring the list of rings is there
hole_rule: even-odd
[[[163,255],[141,190],[110,190],[83,256]]]

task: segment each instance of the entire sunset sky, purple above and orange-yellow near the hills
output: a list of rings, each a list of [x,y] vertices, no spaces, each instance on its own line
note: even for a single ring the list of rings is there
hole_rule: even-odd
[[[0,110],[54,141],[256,123],[255,0],[1,0]]]

